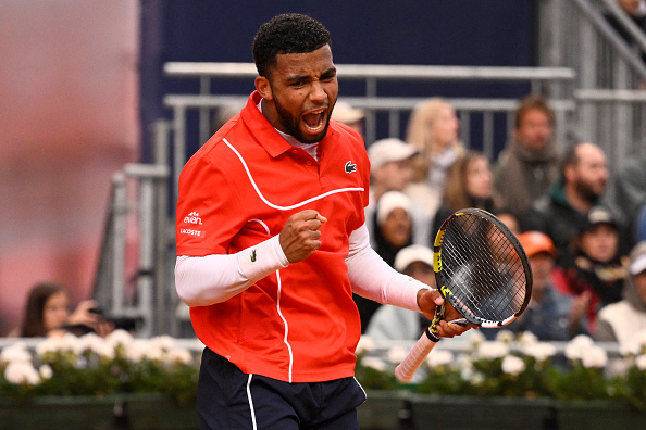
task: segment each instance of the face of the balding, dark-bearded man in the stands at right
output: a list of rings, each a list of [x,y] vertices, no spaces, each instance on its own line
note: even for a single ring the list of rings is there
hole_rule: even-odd
[[[579,163],[570,166],[571,180],[576,192],[588,201],[594,201],[606,190],[608,167],[606,155],[600,148],[583,144],[579,151]]]

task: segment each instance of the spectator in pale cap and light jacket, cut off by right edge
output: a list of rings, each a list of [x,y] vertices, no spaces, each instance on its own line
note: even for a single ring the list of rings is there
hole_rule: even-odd
[[[630,253],[630,275],[623,299],[599,311],[595,338],[599,341],[629,343],[646,330],[646,241],[637,243]]]

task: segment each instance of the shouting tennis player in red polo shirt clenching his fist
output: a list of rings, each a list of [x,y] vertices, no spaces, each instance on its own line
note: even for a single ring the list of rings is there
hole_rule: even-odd
[[[361,136],[330,121],[331,48],[309,16],[263,24],[256,91],[179,177],[175,281],[206,345],[204,429],[358,429],[352,292],[431,317],[442,304],[369,245],[370,164]]]

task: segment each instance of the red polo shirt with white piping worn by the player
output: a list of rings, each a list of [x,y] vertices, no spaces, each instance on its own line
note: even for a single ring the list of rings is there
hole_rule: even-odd
[[[190,309],[199,339],[246,374],[288,382],[353,375],[360,337],[345,258],[364,223],[370,163],[361,137],[332,121],[320,163],[247,106],[179,176],[177,255],[233,254],[281,232],[306,208],[327,218],[322,246],[243,293]]]

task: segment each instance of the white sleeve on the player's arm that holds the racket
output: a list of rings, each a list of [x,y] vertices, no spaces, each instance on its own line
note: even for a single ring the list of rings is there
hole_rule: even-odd
[[[352,290],[357,294],[382,304],[420,312],[418,291],[431,287],[388,266],[370,248],[365,224],[350,235],[350,249],[346,263]]]

